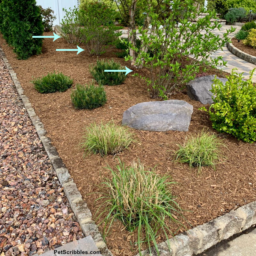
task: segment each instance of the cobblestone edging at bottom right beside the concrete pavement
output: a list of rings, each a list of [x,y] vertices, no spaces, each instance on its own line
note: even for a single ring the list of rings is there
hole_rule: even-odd
[[[191,256],[198,254],[240,233],[256,224],[256,202],[252,202],[199,225],[188,231],[180,233],[171,239],[157,245],[160,256]],[[168,248],[170,244],[170,250]],[[141,252],[143,256],[156,256],[155,248]],[[136,256],[139,256],[138,253]]]

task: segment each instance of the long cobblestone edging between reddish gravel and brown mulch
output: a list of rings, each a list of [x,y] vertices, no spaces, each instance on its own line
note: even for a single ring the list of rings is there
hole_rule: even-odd
[[[47,132],[44,129],[44,125],[42,124],[40,118],[36,115],[35,110],[34,108],[32,108],[28,97],[24,95],[24,90],[20,85],[16,73],[12,69],[12,66],[6,58],[2,48],[0,48],[0,54],[4,60],[6,67],[8,68],[16,90],[19,93],[25,108],[27,109],[28,116],[30,117],[32,124],[35,126],[36,132],[38,133],[38,136],[44,145],[44,149],[52,162],[52,166],[58,176],[61,186],[64,189],[64,192],[68,198],[69,204],[76,216],[76,219],[78,220],[78,223],[82,228],[84,236],[92,236],[102,256],[113,256],[112,253],[108,250],[107,245],[103,241],[97,225],[92,220],[92,213],[89,210],[87,204],[82,199],[82,195],[78,191],[74,180],[68,172],[68,169],[62,162],[62,159],[60,158],[56,148],[52,146],[51,139],[46,136]]]

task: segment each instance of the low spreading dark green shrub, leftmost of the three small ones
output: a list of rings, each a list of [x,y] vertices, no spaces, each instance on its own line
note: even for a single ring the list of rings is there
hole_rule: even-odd
[[[64,92],[68,90],[73,84],[73,79],[69,76],[64,76],[61,72],[48,73],[47,76],[43,76],[34,79],[32,83],[35,89],[41,93],[52,93],[52,92]]]

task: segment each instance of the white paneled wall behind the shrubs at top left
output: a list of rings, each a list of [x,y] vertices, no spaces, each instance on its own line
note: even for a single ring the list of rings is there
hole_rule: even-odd
[[[50,7],[56,15],[56,20],[53,21],[53,26],[60,25],[63,19],[64,12],[62,8],[69,9],[69,7],[78,7],[79,0],[36,0],[37,5],[41,5],[44,9]]]

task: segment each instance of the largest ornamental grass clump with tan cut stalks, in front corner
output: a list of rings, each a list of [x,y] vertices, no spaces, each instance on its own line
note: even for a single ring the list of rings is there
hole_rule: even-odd
[[[108,235],[111,225],[118,219],[129,232],[137,230],[139,252],[141,244],[147,243],[151,255],[150,243],[153,242],[159,255],[156,245],[157,232],[164,230],[168,240],[168,235],[172,233],[167,226],[170,220],[183,226],[176,220],[176,216],[182,216],[181,209],[174,201],[175,197],[169,188],[175,182],[167,181],[171,180],[169,176],[158,176],[154,169],[145,170],[140,162],[133,162],[132,166],[127,167],[120,159],[119,162],[117,171],[108,168],[112,178],[105,178],[106,181],[102,182],[106,193],[97,199],[104,198],[106,205],[97,218],[108,213],[101,221],[105,222],[103,237]],[[99,209],[102,210],[102,205]]]

